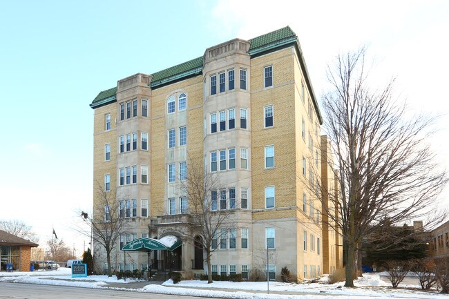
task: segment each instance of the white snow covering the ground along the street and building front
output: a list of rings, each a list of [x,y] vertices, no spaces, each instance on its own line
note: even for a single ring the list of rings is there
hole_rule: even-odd
[[[138,285],[134,280],[117,280],[115,276],[88,276],[87,278],[72,278],[71,269],[60,268],[53,271],[32,272],[0,272],[0,282],[21,282],[32,284],[52,284],[70,287],[86,287],[95,289],[120,289],[127,291],[140,291],[149,293],[165,293],[180,296],[206,296],[210,298],[237,298],[237,299],[391,299],[391,298],[416,298],[434,299],[448,298],[436,292],[414,291],[410,289],[392,289],[388,282],[381,280],[385,273],[364,273],[362,278],[354,281],[357,288],[343,287],[343,282],[336,284],[325,283],[300,283],[287,284],[283,282],[269,282],[267,294],[267,282],[213,282],[207,284],[202,280],[182,280],[173,284],[167,280],[162,285],[147,284],[141,281]],[[388,273],[387,273],[388,275]],[[321,281],[325,281],[323,278]],[[144,287],[142,287],[144,285]],[[122,287],[118,287],[122,286]],[[404,287],[399,284],[399,287]],[[419,285],[409,287],[419,288]]]

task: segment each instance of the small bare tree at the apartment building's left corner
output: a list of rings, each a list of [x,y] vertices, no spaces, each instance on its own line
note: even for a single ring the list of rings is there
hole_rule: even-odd
[[[79,212],[84,227],[77,231],[92,238],[93,242],[104,247],[108,263],[108,276],[112,276],[111,252],[117,246],[117,240],[124,226],[124,211],[120,210],[116,191],[106,191],[102,184],[97,184],[97,197],[93,204],[93,213]],[[87,228],[87,229],[86,229]]]

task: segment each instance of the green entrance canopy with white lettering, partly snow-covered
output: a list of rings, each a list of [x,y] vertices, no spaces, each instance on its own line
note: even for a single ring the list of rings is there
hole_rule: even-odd
[[[123,251],[151,251],[151,250],[169,250],[173,251],[182,245],[174,235],[166,235],[164,238],[151,239],[140,238],[133,240],[122,247]]]

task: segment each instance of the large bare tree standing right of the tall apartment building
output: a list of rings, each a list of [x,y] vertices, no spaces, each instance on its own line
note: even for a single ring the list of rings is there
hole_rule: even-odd
[[[407,117],[405,105],[392,100],[394,79],[371,90],[365,52],[336,57],[327,69],[332,89],[322,99],[339,178],[341,200],[329,195],[329,201],[338,207],[345,287],[354,287],[363,238],[387,224],[425,218],[448,180],[426,142],[434,119]]]

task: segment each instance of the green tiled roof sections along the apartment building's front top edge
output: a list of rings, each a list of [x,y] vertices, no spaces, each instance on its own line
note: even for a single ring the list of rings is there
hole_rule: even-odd
[[[249,47],[249,55],[253,55],[271,48],[276,48],[277,46],[282,46],[283,44],[296,41],[296,34],[292,29],[287,26],[269,32],[265,35],[260,35],[260,37],[255,37],[249,40],[251,46]],[[178,64],[177,66],[172,66],[171,68],[166,68],[165,70],[160,70],[159,72],[151,74],[153,79],[151,79],[150,87],[160,86],[162,84],[169,83],[176,79],[181,79],[189,75],[198,75],[201,73],[203,67],[202,56]],[[104,90],[95,97],[90,107],[95,108],[106,104],[111,101],[115,101],[115,94],[117,93],[117,87]]]

